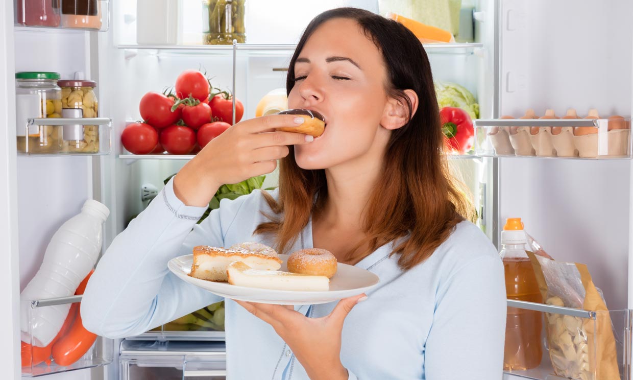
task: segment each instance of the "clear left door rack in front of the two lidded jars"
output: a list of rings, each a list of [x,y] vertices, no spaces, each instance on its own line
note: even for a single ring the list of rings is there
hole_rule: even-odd
[[[32,157],[109,155],[111,127],[112,120],[106,117],[29,118],[24,135],[18,136],[18,153]]]

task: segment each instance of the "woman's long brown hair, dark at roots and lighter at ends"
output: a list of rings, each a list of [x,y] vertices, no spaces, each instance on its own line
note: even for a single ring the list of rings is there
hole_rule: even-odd
[[[407,28],[369,11],[336,8],[316,16],[304,31],[289,64],[286,89],[294,86],[294,64],[311,34],[332,18],[358,22],[382,53],[387,68],[387,94],[399,99],[412,113],[404,89],[419,98],[417,111],[403,127],[392,132],[382,162],[382,177],[370,195],[363,220],[367,239],[346,254],[358,262],[380,246],[399,238],[392,254],[402,269],[430,257],[456,224],[474,220],[475,210],[467,192],[451,175],[441,131],[439,109],[429,58],[420,41]],[[265,193],[275,215],[258,225],[255,233],[273,234],[277,250],[284,253],[296,242],[310,215],[318,217],[327,201],[325,171],[304,170],[294,160],[294,149],[280,160],[279,200]]]

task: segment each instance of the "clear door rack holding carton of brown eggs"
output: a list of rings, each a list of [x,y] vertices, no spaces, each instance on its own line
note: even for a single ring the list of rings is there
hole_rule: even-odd
[[[479,119],[473,125],[477,156],[631,158],[630,118]]]

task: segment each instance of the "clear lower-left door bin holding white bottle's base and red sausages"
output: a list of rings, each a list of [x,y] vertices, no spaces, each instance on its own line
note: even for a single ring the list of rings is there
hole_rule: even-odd
[[[82,326],[78,326],[79,303],[82,296],[67,296],[59,298],[47,298],[42,300],[21,300],[22,310],[21,335],[22,335],[22,376],[38,377],[60,372],[75,371],[110,364],[113,360],[114,346],[112,339],[97,336],[91,344],[89,334],[84,333]],[[55,336],[46,347],[39,343],[39,339],[50,340],[49,324],[42,323],[44,317],[62,315],[64,319],[70,317],[68,330],[60,336]],[[69,321],[70,321],[69,320]],[[57,335],[57,334],[54,334]],[[80,338],[78,338],[80,337]],[[39,338],[39,339],[38,339]],[[84,341],[84,343],[82,343]],[[87,343],[85,343],[87,342]],[[57,347],[57,345],[60,345]],[[90,346],[87,346],[90,345]],[[67,348],[73,348],[68,350]],[[68,352],[66,355],[64,352]],[[59,355],[59,356],[58,356]],[[77,355],[78,359],[72,359]],[[59,358],[60,363],[56,363]]]

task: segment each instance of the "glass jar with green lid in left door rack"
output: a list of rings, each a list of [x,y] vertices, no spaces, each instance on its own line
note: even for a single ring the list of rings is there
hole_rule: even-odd
[[[35,154],[60,152],[61,127],[59,125],[31,125],[27,130],[29,118],[61,117],[61,89],[57,85],[58,79],[60,79],[60,74],[52,72],[15,74],[18,151]]]

